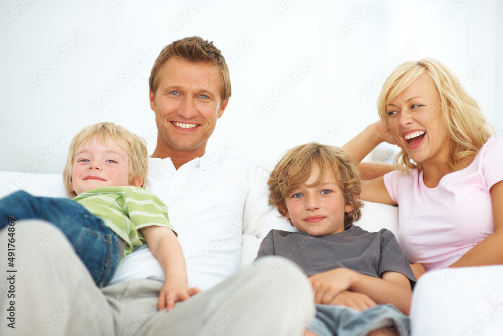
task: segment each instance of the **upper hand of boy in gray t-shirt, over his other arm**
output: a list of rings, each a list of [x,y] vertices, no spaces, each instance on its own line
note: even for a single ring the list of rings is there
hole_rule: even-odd
[[[350,289],[358,273],[348,268],[335,268],[308,278],[314,290],[314,303],[331,304],[342,292]]]

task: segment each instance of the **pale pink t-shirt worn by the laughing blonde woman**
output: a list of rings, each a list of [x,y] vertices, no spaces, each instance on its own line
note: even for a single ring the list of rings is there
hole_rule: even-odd
[[[399,241],[410,262],[426,270],[452,264],[494,233],[490,188],[503,180],[503,138],[491,137],[465,169],[445,175],[435,188],[417,169],[384,175],[398,204]]]

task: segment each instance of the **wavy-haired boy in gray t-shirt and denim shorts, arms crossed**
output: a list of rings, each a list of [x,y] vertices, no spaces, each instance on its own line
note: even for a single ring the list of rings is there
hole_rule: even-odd
[[[317,313],[305,335],[407,335],[415,278],[391,231],[352,224],[363,205],[360,173],[349,156],[333,146],[297,146],[268,185],[269,203],[299,232],[271,230],[258,258],[284,256],[309,277]]]

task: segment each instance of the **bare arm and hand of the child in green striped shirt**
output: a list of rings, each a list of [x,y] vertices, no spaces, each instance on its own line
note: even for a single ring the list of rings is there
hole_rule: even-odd
[[[187,284],[185,258],[175,233],[161,226],[149,226],[140,230],[150,251],[159,260],[166,278],[159,292],[158,309],[167,308],[167,311],[170,311],[176,302],[185,301],[201,292],[196,287],[189,288]]]

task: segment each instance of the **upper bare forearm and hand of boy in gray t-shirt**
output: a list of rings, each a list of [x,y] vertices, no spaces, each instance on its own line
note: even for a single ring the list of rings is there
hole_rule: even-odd
[[[409,280],[397,272],[385,272],[382,279],[366,276],[348,268],[309,277],[314,290],[315,303],[329,304],[333,298],[346,290],[366,294],[377,304],[390,303],[408,315],[412,301]]]

